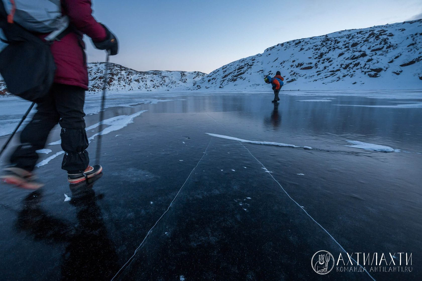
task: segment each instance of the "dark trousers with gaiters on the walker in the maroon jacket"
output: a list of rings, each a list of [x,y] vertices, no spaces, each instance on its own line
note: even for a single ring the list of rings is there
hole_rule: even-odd
[[[37,103],[37,112],[23,129],[19,145],[11,155],[12,166],[32,171],[38,160],[36,150],[43,149],[51,129],[60,124],[62,169],[84,171],[89,163],[88,137],[84,120],[85,90],[77,86],[53,84],[49,94]]]

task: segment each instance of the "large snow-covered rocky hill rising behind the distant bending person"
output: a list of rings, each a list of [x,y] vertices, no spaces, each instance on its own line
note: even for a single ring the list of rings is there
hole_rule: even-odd
[[[194,89],[268,89],[281,71],[285,89],[422,88],[422,20],[292,40],[226,64]]]

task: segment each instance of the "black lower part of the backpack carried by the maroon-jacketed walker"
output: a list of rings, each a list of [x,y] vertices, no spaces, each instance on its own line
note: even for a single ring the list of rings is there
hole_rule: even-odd
[[[11,94],[39,102],[49,92],[56,70],[50,44],[71,31],[67,17],[63,19],[65,26],[52,32],[54,35],[45,41],[16,22],[9,23],[0,1],[0,28],[5,35],[1,40],[8,44],[0,53],[0,73]]]

